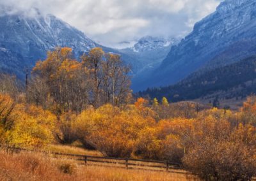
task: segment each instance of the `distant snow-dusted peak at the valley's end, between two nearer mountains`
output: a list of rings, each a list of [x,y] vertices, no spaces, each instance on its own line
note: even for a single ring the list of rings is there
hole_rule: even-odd
[[[139,91],[140,81],[147,78],[148,75],[164,60],[172,46],[177,45],[177,38],[159,38],[145,36],[131,48],[119,50],[125,55],[129,55],[133,61],[137,62],[137,67],[132,77],[132,89]]]

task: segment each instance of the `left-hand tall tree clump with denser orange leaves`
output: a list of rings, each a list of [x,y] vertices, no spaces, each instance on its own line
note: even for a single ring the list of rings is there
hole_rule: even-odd
[[[88,103],[88,70],[73,59],[71,48],[56,48],[33,68],[28,98],[38,104],[51,98],[57,112],[79,113]]]

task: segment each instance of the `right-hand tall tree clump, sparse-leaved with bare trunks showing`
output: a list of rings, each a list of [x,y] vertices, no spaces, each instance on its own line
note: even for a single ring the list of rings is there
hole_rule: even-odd
[[[81,57],[90,72],[91,103],[97,108],[111,103],[113,106],[126,104],[131,97],[129,67],[124,66],[120,55],[106,54],[102,48],[93,48]]]

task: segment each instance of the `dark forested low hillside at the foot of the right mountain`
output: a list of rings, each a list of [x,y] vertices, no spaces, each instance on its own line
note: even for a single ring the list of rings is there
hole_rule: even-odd
[[[209,95],[224,96],[225,99],[244,98],[256,92],[256,56],[243,61],[216,68],[211,71],[198,71],[182,82],[169,87],[148,89],[139,92],[140,96],[162,98],[170,101],[198,99]]]

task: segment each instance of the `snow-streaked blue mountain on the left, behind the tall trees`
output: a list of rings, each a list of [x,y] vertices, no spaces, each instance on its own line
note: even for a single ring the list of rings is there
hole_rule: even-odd
[[[4,71],[22,76],[24,68],[44,59],[54,47],[71,47],[76,56],[96,47],[84,33],[53,15],[43,16],[38,10],[31,10],[33,15],[1,10],[0,69]]]

